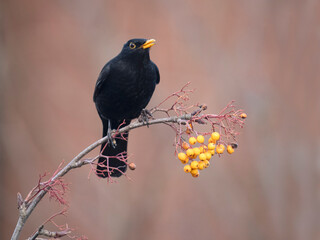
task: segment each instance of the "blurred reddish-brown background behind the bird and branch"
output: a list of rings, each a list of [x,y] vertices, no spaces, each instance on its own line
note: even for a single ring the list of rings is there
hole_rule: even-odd
[[[39,174],[101,137],[93,90],[130,38],[155,38],[161,82],[149,107],[186,82],[217,113],[248,114],[239,148],[197,179],[164,125],[130,133],[133,181],[70,172],[68,223],[89,239],[320,239],[320,2],[1,1],[0,238]],[[96,150],[90,156],[95,156]],[[48,197],[21,239],[61,207]],[[48,229],[54,230],[48,225]]]

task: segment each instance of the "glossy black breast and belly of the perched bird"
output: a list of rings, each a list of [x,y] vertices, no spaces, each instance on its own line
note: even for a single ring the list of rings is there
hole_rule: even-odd
[[[99,98],[99,111],[108,118],[133,119],[147,106],[154,92],[156,76],[153,66],[115,68]]]

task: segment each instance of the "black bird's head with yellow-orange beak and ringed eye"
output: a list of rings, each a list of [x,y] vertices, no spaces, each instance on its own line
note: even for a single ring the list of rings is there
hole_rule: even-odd
[[[123,45],[121,53],[132,57],[149,57],[149,50],[153,45],[155,45],[155,42],[156,40],[154,39],[131,39]]]

